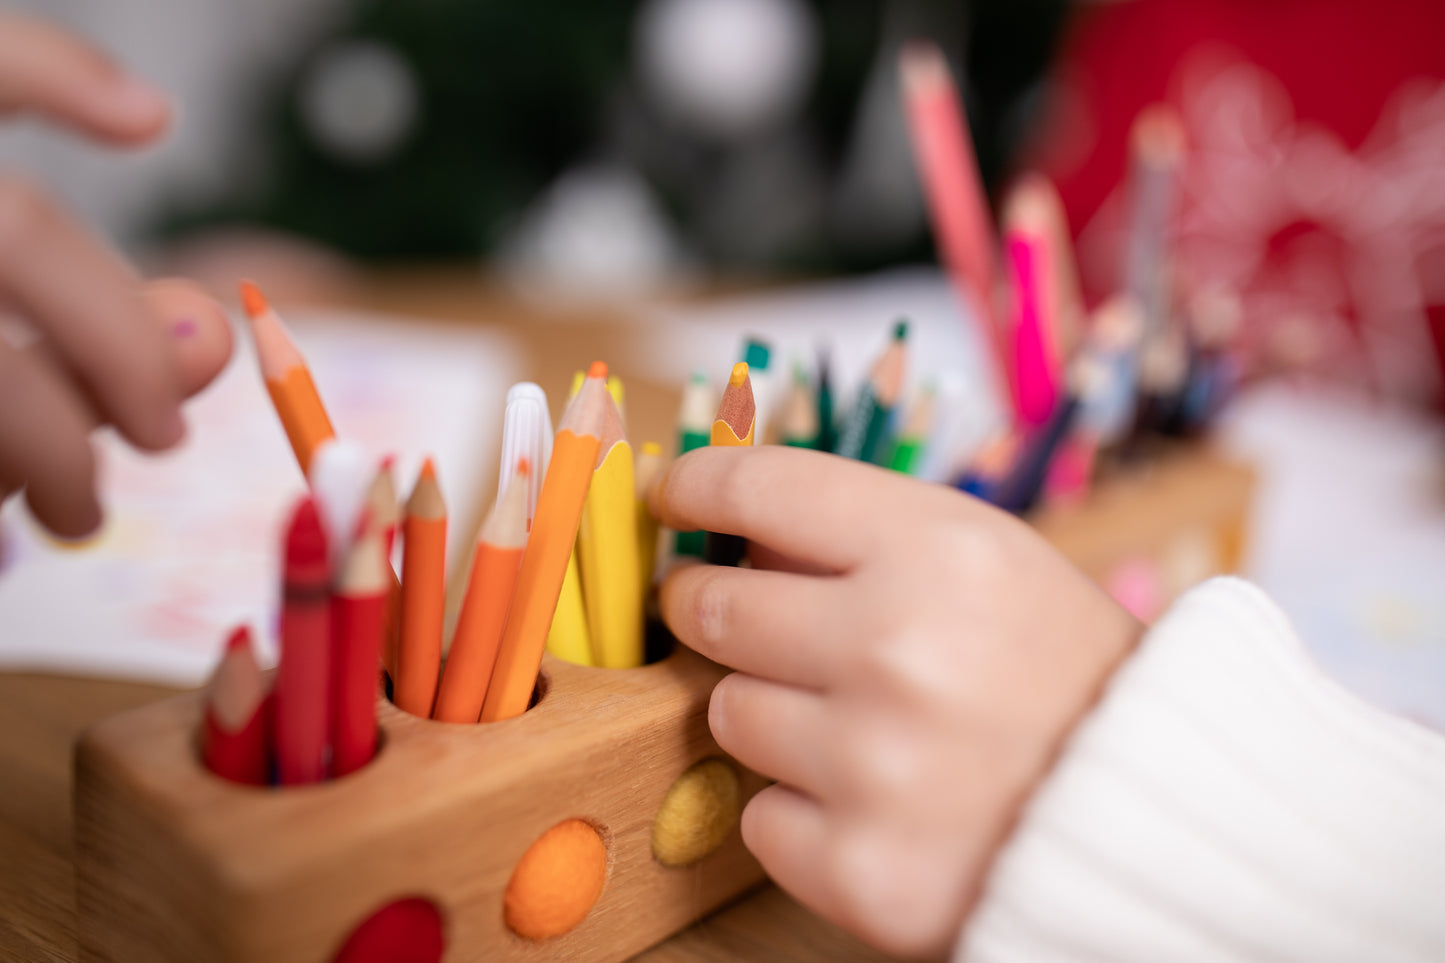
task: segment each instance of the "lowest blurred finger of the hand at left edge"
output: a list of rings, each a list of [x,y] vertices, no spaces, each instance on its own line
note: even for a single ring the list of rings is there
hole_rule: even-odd
[[[85,406],[72,386],[0,341],[0,466],[36,521],[79,538],[101,522]]]

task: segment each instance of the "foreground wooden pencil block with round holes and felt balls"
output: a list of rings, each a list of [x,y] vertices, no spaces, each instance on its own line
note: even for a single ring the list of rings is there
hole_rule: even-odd
[[[681,646],[636,669],[548,656],[522,717],[449,726],[383,701],[370,765],[283,789],[205,771],[199,694],[105,720],[75,759],[81,956],[328,963],[377,910],[413,898],[439,914],[445,960],[633,956],[763,879],[736,821],[691,865],[653,855],[669,788],[724,758],[707,726],[724,674]],[[740,803],[766,785],[727,762]],[[517,936],[503,918],[509,879],[568,820],[605,843],[601,895],[562,936]]]

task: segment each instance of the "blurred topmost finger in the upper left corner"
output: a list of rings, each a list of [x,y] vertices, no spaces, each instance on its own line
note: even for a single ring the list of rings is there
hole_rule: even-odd
[[[45,20],[0,12],[0,113],[33,113],[97,140],[144,143],[171,120],[165,94]]]

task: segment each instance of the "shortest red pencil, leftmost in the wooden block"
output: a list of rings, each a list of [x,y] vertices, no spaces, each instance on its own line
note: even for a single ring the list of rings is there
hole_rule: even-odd
[[[205,694],[201,749],[205,768],[231,782],[266,785],[270,762],[266,722],[266,681],[251,652],[250,629],[243,625],[225,641],[225,655]]]

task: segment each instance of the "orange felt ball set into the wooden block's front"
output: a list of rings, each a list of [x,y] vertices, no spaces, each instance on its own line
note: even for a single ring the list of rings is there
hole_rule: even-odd
[[[529,940],[566,933],[587,918],[607,881],[607,844],[582,820],[558,823],[522,855],[503,898],[507,927]]]

